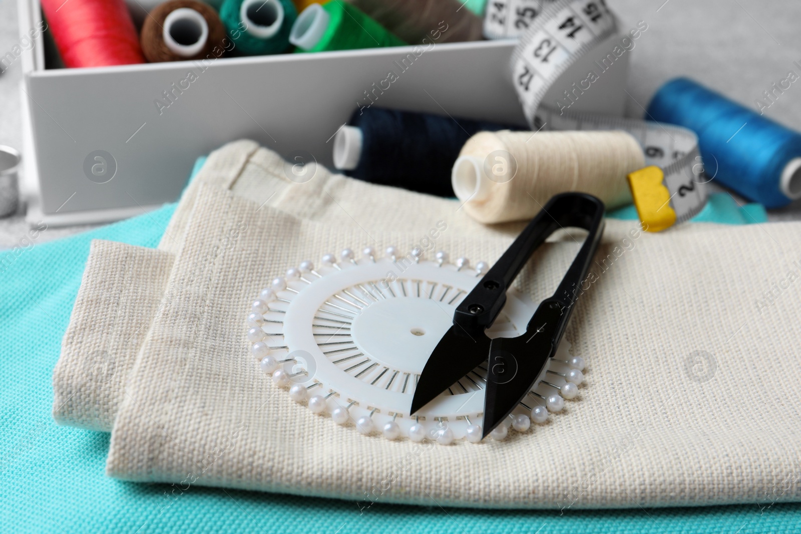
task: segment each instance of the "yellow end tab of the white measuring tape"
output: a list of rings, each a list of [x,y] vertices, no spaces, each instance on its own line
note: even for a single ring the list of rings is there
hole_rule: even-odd
[[[634,207],[646,231],[662,231],[676,222],[676,212],[670,207],[670,191],[662,184],[662,169],[651,165],[626,176],[629,180]]]

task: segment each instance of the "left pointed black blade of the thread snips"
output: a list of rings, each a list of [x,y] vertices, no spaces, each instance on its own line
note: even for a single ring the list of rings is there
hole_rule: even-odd
[[[489,338],[483,332],[469,335],[462,327],[450,327],[425,363],[414,391],[411,413],[429,404],[442,391],[485,362],[487,355]]]

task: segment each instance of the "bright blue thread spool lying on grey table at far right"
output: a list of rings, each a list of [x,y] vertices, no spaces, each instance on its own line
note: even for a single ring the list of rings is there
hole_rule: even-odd
[[[707,175],[767,208],[801,198],[801,134],[687,78],[663,85],[648,118],[690,128]]]

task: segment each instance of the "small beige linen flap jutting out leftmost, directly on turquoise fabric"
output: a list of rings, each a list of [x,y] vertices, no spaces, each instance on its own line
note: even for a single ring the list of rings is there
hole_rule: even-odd
[[[109,432],[173,255],[95,239],[53,371],[58,424]]]

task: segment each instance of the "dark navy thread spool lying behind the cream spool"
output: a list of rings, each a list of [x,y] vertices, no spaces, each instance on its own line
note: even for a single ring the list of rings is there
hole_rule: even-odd
[[[517,126],[368,107],[356,110],[334,138],[334,167],[353,178],[453,197],[451,167],[479,131]]]

